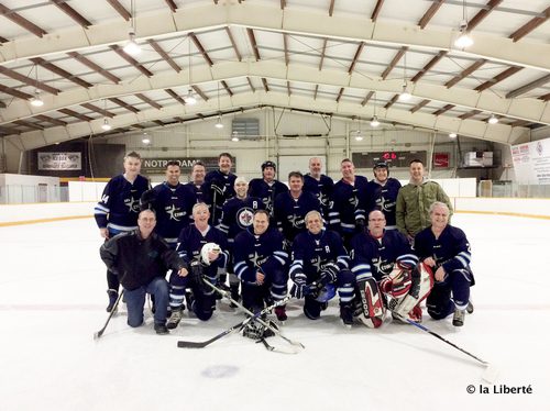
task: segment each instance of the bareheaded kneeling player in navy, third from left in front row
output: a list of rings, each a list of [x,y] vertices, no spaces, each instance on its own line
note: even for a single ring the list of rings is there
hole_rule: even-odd
[[[270,227],[267,210],[257,210],[252,227],[238,234],[234,243],[234,268],[242,281],[243,306],[258,312],[264,303],[283,300],[287,293],[287,264],[283,234]],[[285,321],[285,306],[275,308],[275,315]]]

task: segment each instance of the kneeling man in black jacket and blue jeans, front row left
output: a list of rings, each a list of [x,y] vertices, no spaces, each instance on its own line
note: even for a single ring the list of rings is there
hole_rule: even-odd
[[[173,269],[187,276],[187,264],[170,249],[153,229],[156,215],[153,210],[143,210],[138,218],[138,230],[122,233],[106,242],[99,253],[107,268],[114,273],[124,288],[128,307],[128,325],[143,323],[145,293],[154,297],[156,310],[154,329],[157,334],[167,334],[168,282],[166,271]]]

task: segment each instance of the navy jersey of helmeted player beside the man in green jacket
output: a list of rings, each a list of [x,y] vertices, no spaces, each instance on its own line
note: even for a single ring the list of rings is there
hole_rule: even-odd
[[[380,210],[386,218],[386,225],[396,226],[395,206],[399,188],[402,188],[402,184],[393,177],[389,177],[384,185],[376,180],[369,181],[364,198],[366,204],[362,207],[365,209],[366,215],[373,210]]]

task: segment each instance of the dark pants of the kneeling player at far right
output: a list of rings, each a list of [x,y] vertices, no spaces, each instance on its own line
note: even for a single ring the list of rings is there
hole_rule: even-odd
[[[442,320],[452,314],[455,307],[465,309],[470,300],[471,284],[472,271],[469,269],[455,269],[448,274],[443,281],[436,281],[426,300],[430,316]]]

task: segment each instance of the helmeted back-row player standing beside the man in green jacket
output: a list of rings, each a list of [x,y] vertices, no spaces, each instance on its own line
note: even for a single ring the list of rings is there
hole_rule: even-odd
[[[369,214],[373,210],[381,210],[386,218],[386,230],[397,229],[395,220],[395,204],[397,193],[402,184],[398,179],[389,177],[389,167],[385,162],[378,162],[373,168],[374,179],[366,185],[366,201],[365,207]]]

